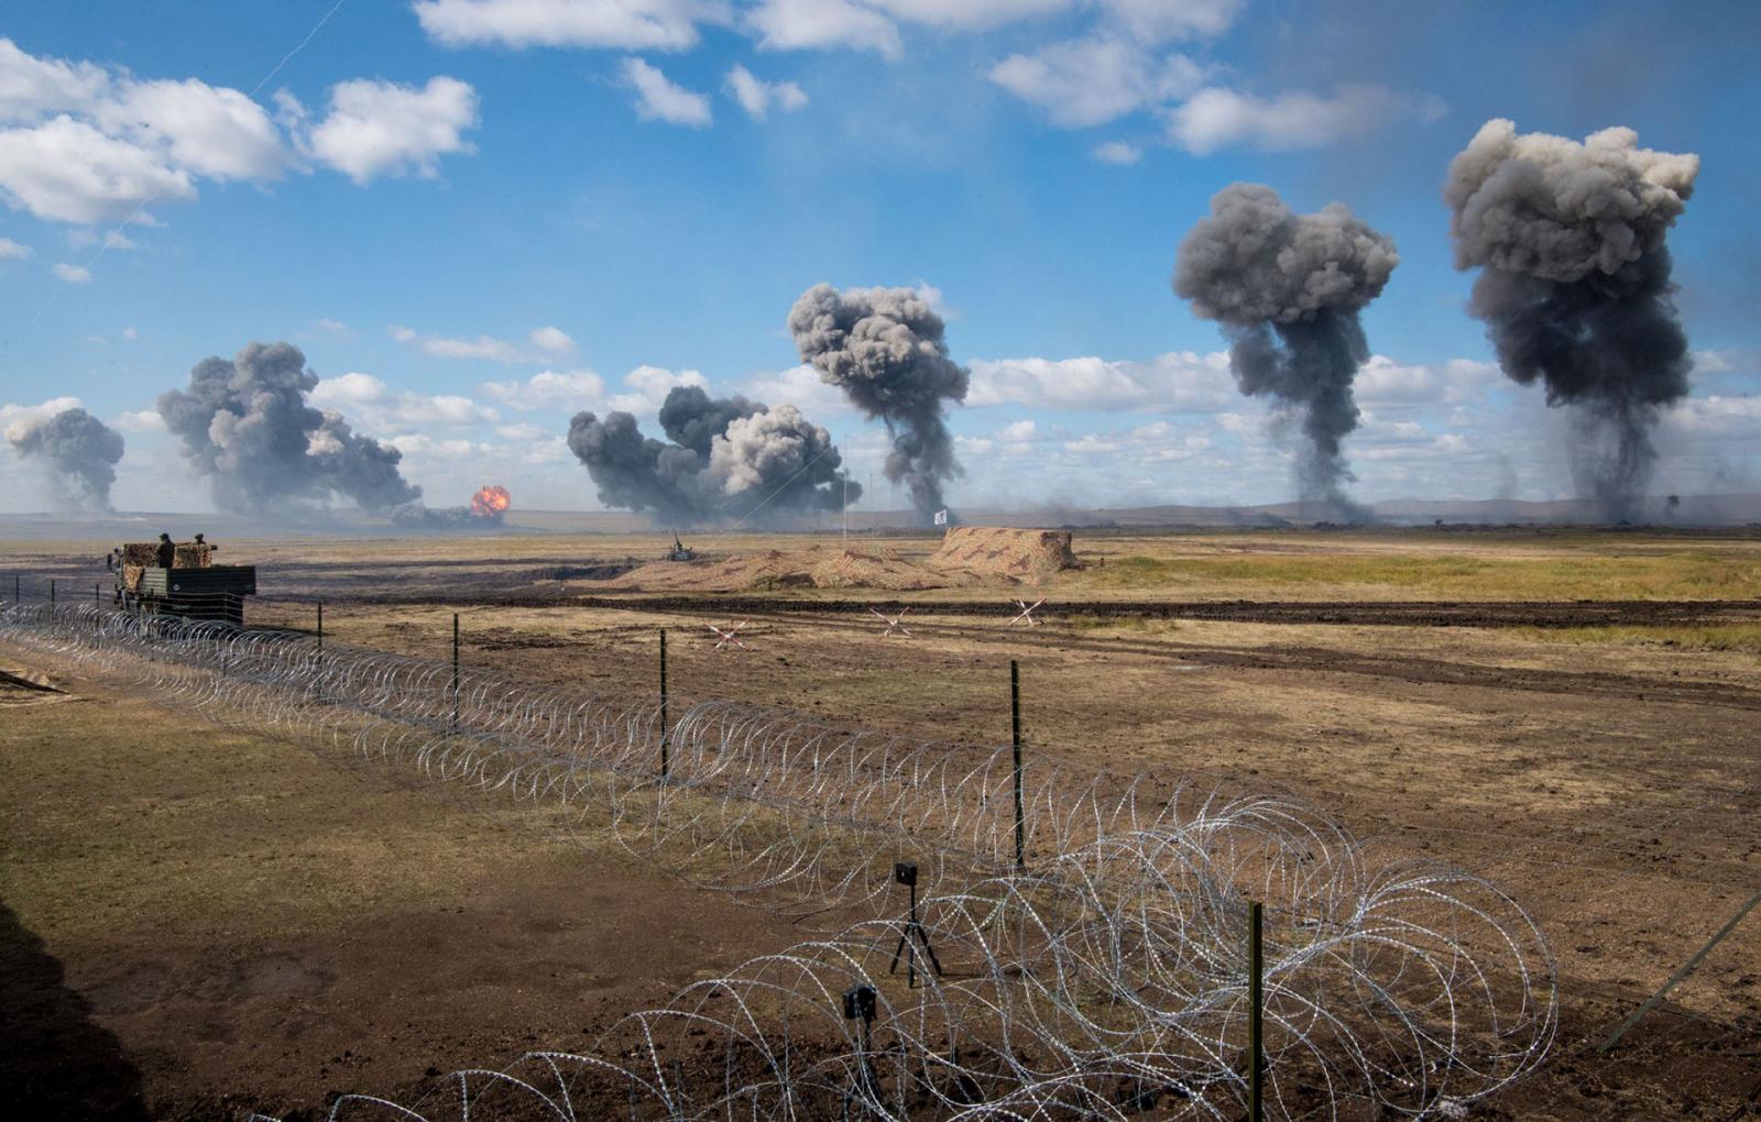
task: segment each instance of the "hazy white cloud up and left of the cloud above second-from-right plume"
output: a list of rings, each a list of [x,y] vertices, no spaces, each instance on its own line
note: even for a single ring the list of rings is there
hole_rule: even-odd
[[[1185,55],[1155,56],[1125,39],[1097,37],[1011,55],[990,79],[1044,109],[1051,123],[1081,128],[1182,97],[1205,81],[1205,70]]]

